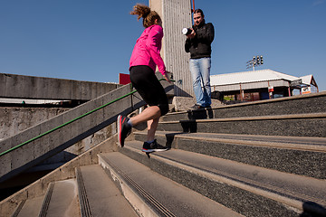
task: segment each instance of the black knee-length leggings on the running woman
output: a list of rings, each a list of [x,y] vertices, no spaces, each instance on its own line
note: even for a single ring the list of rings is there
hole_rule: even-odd
[[[149,106],[158,106],[161,116],[168,113],[168,97],[154,71],[145,65],[130,68],[132,86]]]

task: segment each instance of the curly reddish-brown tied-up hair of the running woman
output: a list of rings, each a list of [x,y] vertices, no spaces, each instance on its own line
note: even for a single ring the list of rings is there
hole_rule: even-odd
[[[155,20],[161,21],[160,16],[155,11],[151,11],[149,6],[137,4],[133,6],[133,11],[130,12],[132,15],[138,15],[138,20],[143,18],[143,26],[145,28],[155,24]]]

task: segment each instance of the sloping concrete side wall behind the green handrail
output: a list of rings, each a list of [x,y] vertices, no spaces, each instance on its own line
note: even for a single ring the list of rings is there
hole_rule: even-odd
[[[85,113],[97,109],[102,105],[118,99],[130,92],[129,85],[123,86],[117,90],[97,99],[82,104],[79,107],[70,109],[62,114],[44,121],[34,127],[27,128],[23,132],[0,141],[0,152],[4,152],[11,147],[24,143],[25,141],[37,137],[54,127],[78,118]],[[22,146],[5,156],[0,157],[0,182],[5,181],[14,175],[30,168],[33,165],[41,163],[43,160],[61,152],[78,141],[91,136],[103,127],[107,127],[116,121],[119,114],[129,114],[135,109],[143,106],[144,102],[139,94],[130,95],[120,99],[102,109],[96,110],[81,119],[75,120],[69,125],[61,127],[51,134],[40,137],[33,142]]]

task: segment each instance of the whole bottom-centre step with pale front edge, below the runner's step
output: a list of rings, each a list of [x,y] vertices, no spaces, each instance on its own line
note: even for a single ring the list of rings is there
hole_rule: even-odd
[[[99,163],[139,216],[242,216],[121,153],[101,154]]]

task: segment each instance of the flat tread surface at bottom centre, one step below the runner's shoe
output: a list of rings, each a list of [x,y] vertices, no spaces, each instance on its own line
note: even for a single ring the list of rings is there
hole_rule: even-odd
[[[118,167],[176,216],[216,216],[216,213],[219,216],[242,216],[121,153],[106,153],[100,157],[109,165]]]

